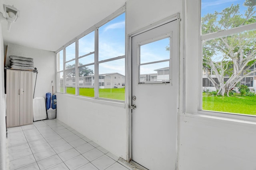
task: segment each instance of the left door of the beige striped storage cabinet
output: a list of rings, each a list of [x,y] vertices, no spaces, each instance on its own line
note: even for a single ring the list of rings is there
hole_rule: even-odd
[[[6,126],[20,126],[20,72],[6,70]]]

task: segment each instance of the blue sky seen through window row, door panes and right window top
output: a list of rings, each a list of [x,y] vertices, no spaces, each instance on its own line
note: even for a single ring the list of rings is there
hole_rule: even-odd
[[[246,8],[243,6],[244,0],[202,0],[202,16],[214,11],[222,11],[231,4],[240,4],[240,13],[243,14]],[[120,36],[121,35],[121,36]],[[158,42],[146,44],[141,47],[141,62],[152,62],[168,58],[170,52],[166,51],[169,39],[165,38]],[[80,38],[79,56],[94,52],[94,31]],[[66,48],[66,60],[74,58],[74,43]],[[110,22],[99,28],[99,60],[106,60],[125,54],[125,14],[114,18]],[[93,62],[94,55],[81,58],[79,62],[88,64]],[[141,67],[141,74],[156,73],[154,69],[165,67],[166,63],[145,65]],[[124,59],[102,63],[99,66],[99,73],[106,74],[119,72],[125,74]]]

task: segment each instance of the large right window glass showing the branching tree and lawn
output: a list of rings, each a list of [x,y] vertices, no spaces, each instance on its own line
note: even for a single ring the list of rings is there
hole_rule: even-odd
[[[256,115],[256,107],[241,109],[256,102],[256,6],[249,2],[202,0],[200,110]]]

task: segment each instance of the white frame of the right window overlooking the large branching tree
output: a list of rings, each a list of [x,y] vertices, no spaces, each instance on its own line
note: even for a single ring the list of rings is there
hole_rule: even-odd
[[[200,30],[200,44],[199,44],[199,48],[200,48],[200,55],[199,55],[199,101],[198,101],[198,113],[196,114],[192,114],[195,116],[200,116],[200,117],[204,117],[204,118],[215,118],[215,119],[221,119],[221,120],[229,120],[229,121],[233,121],[233,122],[245,122],[245,123],[250,123],[250,124],[255,124],[256,123],[256,116],[254,115],[248,115],[248,114],[237,114],[237,113],[229,113],[229,112],[217,112],[217,111],[210,111],[210,110],[202,110],[202,54],[203,54],[203,46],[202,43],[204,40],[209,40],[209,39],[214,39],[214,38],[219,38],[222,36],[227,36],[227,35],[231,35],[231,34],[236,34],[239,32],[243,32],[246,30],[253,30],[256,29],[256,23],[253,24],[248,24],[245,26],[240,26],[240,27],[236,27],[236,28],[231,28],[229,30],[223,30],[220,32],[214,32],[214,33],[209,33],[209,34],[204,34],[202,35],[201,33],[201,0],[199,1],[199,30]]]

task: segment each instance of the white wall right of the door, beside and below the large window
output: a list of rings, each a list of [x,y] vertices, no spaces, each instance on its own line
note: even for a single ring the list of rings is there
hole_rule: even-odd
[[[180,114],[178,169],[256,170],[255,118],[207,112],[195,115],[198,113],[200,92],[198,75],[202,73],[198,58],[200,0],[185,0],[184,13],[186,113]]]

